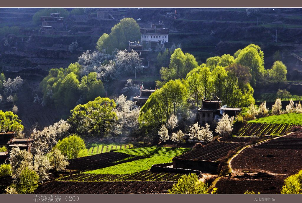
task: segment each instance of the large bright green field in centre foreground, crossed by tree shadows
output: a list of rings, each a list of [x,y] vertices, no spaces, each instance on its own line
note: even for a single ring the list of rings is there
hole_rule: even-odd
[[[181,155],[189,150],[189,148],[156,146],[119,150],[117,152],[122,152],[133,156],[141,156],[142,159],[109,166],[103,169],[87,171],[85,173],[130,174],[140,172],[143,170],[149,170],[153,164],[171,162],[173,157]]]

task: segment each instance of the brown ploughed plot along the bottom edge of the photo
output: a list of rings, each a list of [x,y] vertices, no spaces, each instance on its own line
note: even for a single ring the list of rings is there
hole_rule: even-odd
[[[35,194],[130,194],[166,193],[175,182],[119,181],[119,182],[65,182],[50,181],[40,185]]]

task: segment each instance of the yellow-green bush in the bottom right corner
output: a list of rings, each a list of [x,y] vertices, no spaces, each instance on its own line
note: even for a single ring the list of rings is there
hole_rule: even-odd
[[[284,180],[281,194],[302,194],[302,170]]]

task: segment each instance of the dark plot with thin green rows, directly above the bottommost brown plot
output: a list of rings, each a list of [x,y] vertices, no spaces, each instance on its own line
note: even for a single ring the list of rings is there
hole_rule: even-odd
[[[181,178],[181,173],[165,173],[141,171],[132,174],[74,174],[59,178],[59,181],[85,181],[85,182],[102,182],[102,181],[177,181]]]

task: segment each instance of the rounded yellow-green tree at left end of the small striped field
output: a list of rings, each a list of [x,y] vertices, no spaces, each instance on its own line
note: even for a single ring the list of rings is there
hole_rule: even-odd
[[[80,151],[85,149],[85,143],[78,135],[72,134],[62,141],[59,140],[55,149],[59,149],[67,159],[75,159],[79,157]]]

